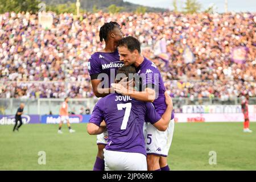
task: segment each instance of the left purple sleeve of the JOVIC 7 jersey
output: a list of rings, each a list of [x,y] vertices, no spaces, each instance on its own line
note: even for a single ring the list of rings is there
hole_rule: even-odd
[[[101,99],[102,100],[102,99]],[[100,126],[102,120],[104,120],[104,114],[102,109],[102,101],[99,100],[93,108],[92,115],[90,116],[89,123],[94,123]]]

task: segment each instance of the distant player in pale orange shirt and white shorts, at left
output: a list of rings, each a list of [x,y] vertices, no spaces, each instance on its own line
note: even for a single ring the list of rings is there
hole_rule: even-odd
[[[63,125],[64,121],[67,121],[69,133],[75,133],[75,130],[71,129],[71,125],[69,123],[69,117],[68,117],[68,97],[65,98],[64,102],[60,106],[60,124],[59,124],[59,130],[58,133],[62,134],[61,127]]]

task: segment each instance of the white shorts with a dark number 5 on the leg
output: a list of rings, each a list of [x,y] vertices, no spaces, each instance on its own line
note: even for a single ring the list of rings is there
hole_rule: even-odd
[[[174,135],[174,119],[169,123],[166,131],[159,131],[151,123],[147,123],[146,129],[146,151],[147,154],[155,154],[167,157]]]

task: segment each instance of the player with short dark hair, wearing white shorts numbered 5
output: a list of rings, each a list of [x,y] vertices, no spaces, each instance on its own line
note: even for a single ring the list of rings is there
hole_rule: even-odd
[[[115,91],[125,96],[130,96],[139,101],[152,102],[160,116],[166,110],[164,102],[164,83],[156,65],[141,55],[141,46],[137,39],[132,36],[123,38],[119,42],[118,52],[120,60],[125,65],[134,65],[137,72],[142,76],[142,90],[129,92],[120,84],[113,84]],[[142,92],[141,92],[142,91]],[[164,132],[157,130],[150,122],[146,125],[145,142],[147,147],[148,170],[169,171],[167,155],[171,147],[174,133],[174,111],[172,110],[171,122]]]

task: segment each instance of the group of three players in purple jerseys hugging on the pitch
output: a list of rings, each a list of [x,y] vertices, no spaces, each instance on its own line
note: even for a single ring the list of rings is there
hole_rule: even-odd
[[[167,155],[174,132],[174,112],[171,98],[165,93],[158,68],[141,55],[141,47],[137,39],[131,36],[122,38],[117,23],[105,23],[100,29],[100,39],[105,40],[105,49],[94,53],[88,64],[93,92],[97,97],[104,97],[94,107],[88,124],[89,134],[100,134],[97,135],[98,154],[93,169],[170,170]],[[125,67],[123,70],[120,68],[118,72],[126,77],[123,76],[122,80],[111,77],[113,73],[117,76],[117,70],[123,66],[122,63]],[[138,91],[127,89],[131,85],[134,86],[134,79],[127,79],[127,74],[134,75],[135,72],[142,78]],[[105,73],[108,78],[101,77],[100,73]],[[113,84],[114,82],[116,84]],[[108,85],[108,88],[106,86],[102,88],[104,85]],[[109,93],[114,94],[107,96]],[[102,120],[105,120],[106,126],[101,124]],[[118,131],[114,132],[113,126]],[[105,131],[106,128],[109,134]],[[118,154],[115,155],[115,152]],[[127,155],[130,152],[134,153],[133,156]],[[141,162],[142,165],[139,160],[131,160],[129,164],[123,163],[123,160],[126,160],[125,156],[127,159],[136,158],[136,154],[145,156],[147,167],[143,158],[141,158],[144,161]],[[113,155],[120,160],[109,160]]]

